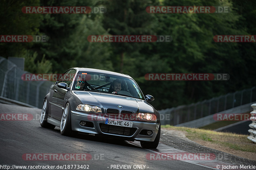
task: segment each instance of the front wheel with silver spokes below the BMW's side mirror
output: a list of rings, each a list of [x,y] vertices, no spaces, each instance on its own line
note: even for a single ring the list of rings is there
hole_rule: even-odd
[[[60,121],[60,133],[61,135],[71,136],[71,114],[70,114],[70,106],[69,103],[66,104]]]

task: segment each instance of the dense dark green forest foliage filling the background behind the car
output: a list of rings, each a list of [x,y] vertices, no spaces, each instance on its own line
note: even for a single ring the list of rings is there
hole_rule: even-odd
[[[255,1],[3,0],[1,35],[47,35],[48,42],[0,43],[1,56],[25,57],[26,70],[62,73],[89,67],[132,76],[157,109],[255,86],[255,43],[218,43],[214,35],[255,34]],[[147,6],[229,6],[228,13],[147,13]],[[23,6],[105,6],[106,13],[25,14]],[[89,42],[89,35],[171,35],[171,42]],[[228,81],[147,81],[147,73],[228,73]]]

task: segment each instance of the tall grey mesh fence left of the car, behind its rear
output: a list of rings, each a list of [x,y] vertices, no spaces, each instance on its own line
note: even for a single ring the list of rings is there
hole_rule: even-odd
[[[22,74],[29,73],[18,68],[6,58],[0,57],[0,96],[41,108],[51,81],[23,81]]]

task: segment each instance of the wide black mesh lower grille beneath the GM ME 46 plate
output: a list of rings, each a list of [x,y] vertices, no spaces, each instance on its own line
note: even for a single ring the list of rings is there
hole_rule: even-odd
[[[108,125],[103,123],[100,123],[100,130],[106,133],[125,135],[125,136],[132,136],[136,132],[136,128]]]

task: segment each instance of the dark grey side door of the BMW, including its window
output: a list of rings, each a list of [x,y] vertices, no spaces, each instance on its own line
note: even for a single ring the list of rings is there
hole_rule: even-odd
[[[67,83],[68,88],[69,88],[72,83],[75,73],[76,73],[76,70],[74,70],[74,69],[66,71],[63,74],[62,79],[58,83]],[[66,96],[66,93],[68,90],[62,89],[62,88],[58,87],[58,85],[54,85],[52,87],[52,90],[54,90],[54,93],[52,95],[52,106],[51,106],[52,118],[61,120],[62,109],[64,109],[63,103],[65,102],[65,96]]]

